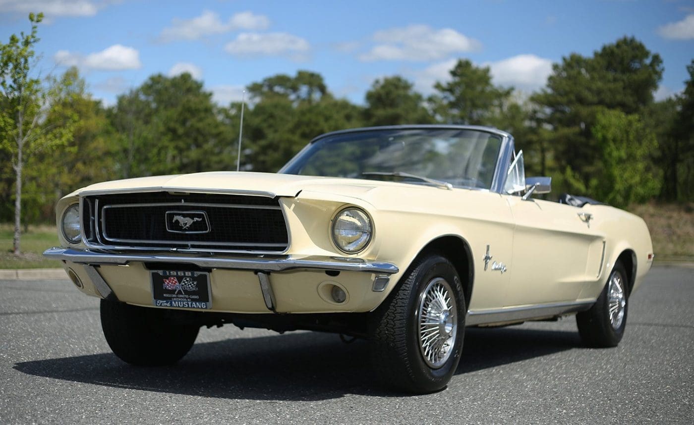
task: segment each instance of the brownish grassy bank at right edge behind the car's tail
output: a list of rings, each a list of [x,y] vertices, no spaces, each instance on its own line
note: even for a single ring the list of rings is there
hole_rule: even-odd
[[[653,240],[656,261],[694,261],[694,204],[634,205]]]

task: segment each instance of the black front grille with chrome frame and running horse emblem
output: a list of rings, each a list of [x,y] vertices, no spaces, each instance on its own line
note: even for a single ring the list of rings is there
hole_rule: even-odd
[[[82,204],[90,245],[283,252],[289,244],[276,198],[149,192],[87,196]]]

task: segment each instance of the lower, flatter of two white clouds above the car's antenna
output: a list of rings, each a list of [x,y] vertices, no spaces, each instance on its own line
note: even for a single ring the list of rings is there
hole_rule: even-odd
[[[224,47],[232,55],[288,55],[303,60],[310,44],[301,37],[287,33],[241,33]]]

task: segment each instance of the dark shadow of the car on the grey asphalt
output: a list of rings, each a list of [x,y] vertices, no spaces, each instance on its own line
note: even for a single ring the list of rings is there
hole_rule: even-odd
[[[457,374],[509,365],[580,347],[576,332],[536,329],[467,329]],[[112,388],[225,399],[317,401],[362,394],[403,397],[375,385],[369,344],[344,344],[328,333],[236,338],[194,345],[169,367],[133,367],[114,354],[16,363],[33,376]],[[464,376],[454,378],[464,379]]]

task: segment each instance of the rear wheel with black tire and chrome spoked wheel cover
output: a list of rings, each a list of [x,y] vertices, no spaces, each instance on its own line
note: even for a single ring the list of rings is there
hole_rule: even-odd
[[[622,263],[616,263],[595,304],[576,314],[583,342],[589,347],[616,347],[627,326],[628,300],[627,272]]]

